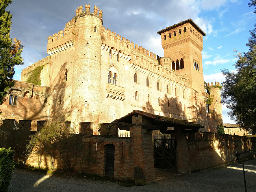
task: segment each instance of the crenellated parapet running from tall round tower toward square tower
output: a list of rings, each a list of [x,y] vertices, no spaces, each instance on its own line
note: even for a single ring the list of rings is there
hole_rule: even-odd
[[[113,45],[117,46],[123,46],[124,48],[128,48],[128,49],[132,49],[135,50],[136,52],[143,54],[149,58],[155,59],[157,60],[159,58],[158,55],[150,52],[149,50],[146,50],[145,48],[138,46],[137,44],[135,44],[134,42],[121,37],[121,35],[116,34],[114,31],[111,32],[111,30],[106,29],[105,27],[102,26],[102,39],[104,39],[105,41],[112,41]],[[103,44],[108,44],[107,42],[104,42],[103,40]],[[113,46],[114,47],[114,46]]]

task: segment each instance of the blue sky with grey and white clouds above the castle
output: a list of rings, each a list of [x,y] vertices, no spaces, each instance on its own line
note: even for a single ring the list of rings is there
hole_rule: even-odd
[[[236,53],[245,46],[254,29],[256,15],[249,0],[92,0],[103,11],[103,26],[163,57],[160,35],[156,32],[186,18],[206,33],[203,39],[204,80],[224,81],[221,69],[235,70]],[[13,14],[11,37],[25,45],[24,65],[15,67],[14,79],[21,70],[48,56],[47,37],[65,28],[78,6],[89,0],[13,0],[7,8]],[[91,8],[91,11],[93,9]],[[181,19],[180,19],[181,18]],[[223,122],[233,124],[223,105]]]

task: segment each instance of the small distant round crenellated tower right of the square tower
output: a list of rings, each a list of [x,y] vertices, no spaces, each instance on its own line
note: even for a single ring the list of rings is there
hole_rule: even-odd
[[[222,116],[222,107],[221,107],[221,86],[219,82],[208,83],[207,89],[209,91],[210,96],[213,101],[211,105],[209,105],[209,113],[213,114],[215,120],[217,120],[217,124],[223,124],[223,116]]]

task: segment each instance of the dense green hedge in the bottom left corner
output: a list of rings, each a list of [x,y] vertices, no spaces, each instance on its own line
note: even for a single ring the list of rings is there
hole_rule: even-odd
[[[11,182],[11,173],[15,170],[13,155],[11,148],[0,148],[0,192],[7,192]]]

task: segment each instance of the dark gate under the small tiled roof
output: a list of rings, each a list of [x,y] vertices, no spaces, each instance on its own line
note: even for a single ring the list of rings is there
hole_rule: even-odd
[[[169,135],[154,135],[154,167],[176,171],[176,140]]]

